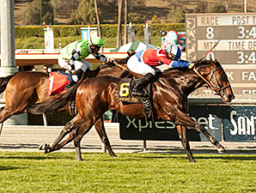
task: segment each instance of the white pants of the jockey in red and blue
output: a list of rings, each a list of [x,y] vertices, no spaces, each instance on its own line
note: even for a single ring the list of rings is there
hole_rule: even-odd
[[[151,73],[152,75],[155,75],[156,71],[159,71],[160,69],[157,69],[155,67],[150,67],[148,64],[139,62],[136,55],[133,55],[130,57],[130,59],[127,62],[127,67],[131,71],[140,74],[140,75],[146,75],[148,73]]]

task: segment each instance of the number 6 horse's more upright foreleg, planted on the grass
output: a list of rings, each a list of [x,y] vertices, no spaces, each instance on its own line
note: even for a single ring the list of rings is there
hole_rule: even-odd
[[[182,144],[183,148],[185,148],[188,160],[190,162],[196,162],[196,160],[194,160],[194,158],[193,158],[192,151],[190,149],[190,145],[189,145],[189,142],[187,140],[186,127],[181,126],[180,124],[178,124],[178,125],[176,125],[176,129],[178,131],[178,135],[180,137],[181,144]]]

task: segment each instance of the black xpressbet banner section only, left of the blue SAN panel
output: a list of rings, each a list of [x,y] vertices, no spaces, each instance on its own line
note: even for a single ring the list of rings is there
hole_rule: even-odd
[[[203,108],[202,108],[203,107]],[[205,108],[209,114],[205,113]],[[198,123],[203,124],[205,129],[210,132],[217,140],[221,139],[222,120],[220,114],[216,114],[216,106],[192,106],[189,112],[192,118]],[[175,129],[175,124],[170,121],[149,121],[142,119],[128,118],[119,114],[120,138],[126,140],[162,140],[180,141]],[[207,141],[196,130],[187,130],[190,141]]]

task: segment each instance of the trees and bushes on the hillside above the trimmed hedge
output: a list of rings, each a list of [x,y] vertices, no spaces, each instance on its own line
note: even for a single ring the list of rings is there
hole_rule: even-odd
[[[184,3],[181,1],[166,0],[174,9],[171,9],[166,15],[167,22],[184,22],[186,13],[225,13],[228,10],[227,3],[221,2],[202,2],[198,4],[194,9],[187,10],[184,8]],[[125,5],[126,3],[126,5]],[[128,5],[129,3],[129,5]],[[95,9],[97,7],[97,9]],[[122,7],[120,9],[120,7]],[[133,0],[55,0],[54,4],[51,0],[32,0],[30,5],[23,13],[22,24],[23,25],[52,25],[56,21],[55,15],[60,18],[69,19],[69,24],[72,25],[92,25],[97,23],[98,20],[101,23],[118,23],[119,11],[122,13],[127,12],[127,16],[122,17],[122,22],[131,21],[132,23],[145,23],[161,22],[161,18],[152,16],[146,17],[137,13],[136,9],[145,7],[143,1]],[[58,24],[58,23],[57,23]]]

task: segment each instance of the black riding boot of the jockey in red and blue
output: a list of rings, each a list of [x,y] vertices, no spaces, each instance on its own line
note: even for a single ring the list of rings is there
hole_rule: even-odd
[[[143,89],[148,86],[149,82],[153,79],[154,75],[148,73],[137,80],[135,87],[133,87],[131,93],[137,96],[143,96]]]

